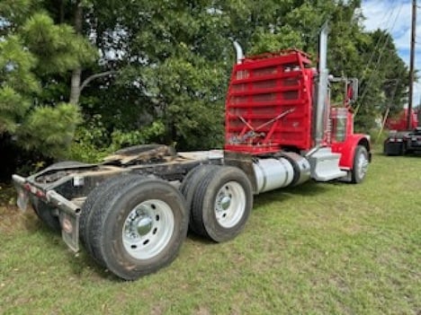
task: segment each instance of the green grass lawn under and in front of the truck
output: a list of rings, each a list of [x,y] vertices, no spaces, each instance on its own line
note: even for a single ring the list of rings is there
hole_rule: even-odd
[[[1,192],[2,314],[421,314],[421,156],[374,154],[361,185],[255,197],[237,239],[189,236],[136,282],[75,257]]]

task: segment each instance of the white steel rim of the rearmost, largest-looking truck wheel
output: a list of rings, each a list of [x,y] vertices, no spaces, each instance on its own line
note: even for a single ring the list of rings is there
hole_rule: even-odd
[[[124,249],[136,259],[153,258],[166,248],[174,227],[174,214],[166,202],[144,201],[126,217],[122,228]]]

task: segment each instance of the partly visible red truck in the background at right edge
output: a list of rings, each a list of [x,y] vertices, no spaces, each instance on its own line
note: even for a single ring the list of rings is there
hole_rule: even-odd
[[[386,155],[405,155],[421,151],[421,126],[418,121],[418,110],[411,110],[410,126],[408,127],[408,109],[402,110],[397,117],[388,118],[385,127],[390,130],[383,143],[383,153]]]

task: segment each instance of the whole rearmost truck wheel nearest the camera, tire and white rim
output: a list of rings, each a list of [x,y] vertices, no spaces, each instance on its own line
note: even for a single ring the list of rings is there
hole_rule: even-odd
[[[181,193],[162,179],[118,179],[98,197],[87,231],[93,256],[126,280],[151,274],[177,256],[188,227]]]

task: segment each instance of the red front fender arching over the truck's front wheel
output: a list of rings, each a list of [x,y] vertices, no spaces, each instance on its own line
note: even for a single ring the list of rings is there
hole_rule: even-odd
[[[363,145],[369,154],[369,162],[372,161],[372,153],[370,148],[370,138],[363,134],[354,134],[347,136],[344,143],[337,143],[332,146],[332,151],[341,153],[339,167],[344,170],[352,170],[354,167],[354,153],[358,145]]]

